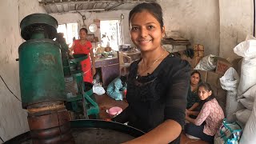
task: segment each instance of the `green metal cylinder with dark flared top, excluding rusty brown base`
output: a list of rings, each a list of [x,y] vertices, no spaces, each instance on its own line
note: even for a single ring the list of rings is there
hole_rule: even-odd
[[[66,101],[60,47],[52,40],[58,22],[48,14],[30,14],[20,27],[26,40],[18,48],[22,107]]]

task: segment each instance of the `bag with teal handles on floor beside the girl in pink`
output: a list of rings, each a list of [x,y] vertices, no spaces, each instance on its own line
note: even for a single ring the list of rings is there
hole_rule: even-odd
[[[214,137],[214,144],[238,144],[242,135],[242,127],[237,122],[228,123],[223,120],[222,126]]]

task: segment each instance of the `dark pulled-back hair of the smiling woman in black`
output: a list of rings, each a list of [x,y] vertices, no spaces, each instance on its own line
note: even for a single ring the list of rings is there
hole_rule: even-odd
[[[150,2],[150,3],[142,2],[137,6],[135,6],[134,9],[130,11],[129,23],[131,22],[131,19],[134,18],[134,14],[141,13],[143,10],[146,10],[150,14],[152,14],[154,18],[158,20],[161,27],[164,26],[163,20],[162,20],[162,7],[156,2]]]

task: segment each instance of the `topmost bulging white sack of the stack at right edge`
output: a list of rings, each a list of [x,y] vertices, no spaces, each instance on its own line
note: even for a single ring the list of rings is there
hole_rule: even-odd
[[[247,40],[234,47],[234,53],[242,56],[241,77],[238,98],[256,84],[256,40]]]

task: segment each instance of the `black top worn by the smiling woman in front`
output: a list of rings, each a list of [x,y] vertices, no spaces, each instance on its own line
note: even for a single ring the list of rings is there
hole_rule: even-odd
[[[148,132],[167,119],[185,123],[190,64],[169,54],[152,74],[138,76],[138,61],[130,65],[126,100],[129,106],[116,118]],[[180,137],[171,143],[179,143]]]

